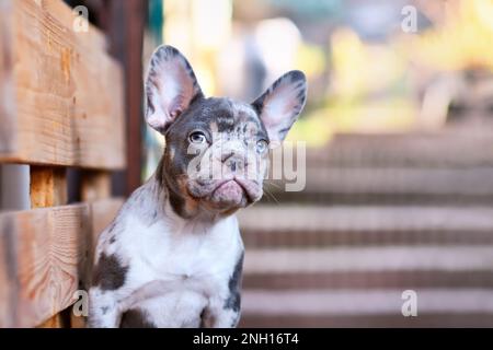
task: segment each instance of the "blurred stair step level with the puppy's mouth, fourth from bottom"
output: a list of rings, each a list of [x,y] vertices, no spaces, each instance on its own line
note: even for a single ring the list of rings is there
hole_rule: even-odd
[[[273,202],[274,196],[283,203],[493,203],[493,167],[309,166],[296,182],[302,190],[289,191],[285,183],[294,180],[270,180],[263,202]]]

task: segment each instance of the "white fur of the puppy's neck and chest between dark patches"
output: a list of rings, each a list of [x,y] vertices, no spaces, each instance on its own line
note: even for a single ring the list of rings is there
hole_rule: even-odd
[[[92,296],[112,295],[121,313],[144,310],[159,326],[197,326],[211,299],[228,299],[229,280],[242,252],[234,215],[184,220],[159,201],[156,184],[149,182],[102,233],[96,249],[98,256],[118,261],[125,269],[124,281],[110,293],[93,288]],[[176,308],[180,317],[171,319],[170,312]]]

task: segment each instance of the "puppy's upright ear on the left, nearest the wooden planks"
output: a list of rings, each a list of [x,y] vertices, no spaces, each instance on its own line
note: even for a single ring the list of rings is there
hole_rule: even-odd
[[[162,45],[152,54],[146,77],[146,120],[161,133],[195,98],[203,97],[195,73],[174,47]]]

